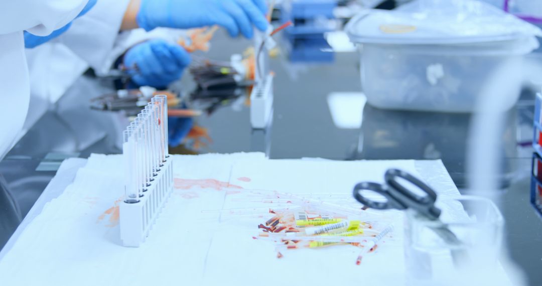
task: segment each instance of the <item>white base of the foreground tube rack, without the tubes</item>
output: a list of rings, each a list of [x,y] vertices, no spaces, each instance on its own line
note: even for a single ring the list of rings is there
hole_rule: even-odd
[[[173,192],[173,156],[160,167],[156,177],[138,203],[120,204],[120,239],[122,245],[139,247],[149,236],[156,218]]]

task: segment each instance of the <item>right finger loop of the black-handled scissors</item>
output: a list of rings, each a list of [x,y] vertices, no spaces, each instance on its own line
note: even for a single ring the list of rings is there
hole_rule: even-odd
[[[417,190],[424,192],[425,196],[420,196],[419,194],[412,192],[411,188],[409,189],[403,185],[398,178],[407,181]],[[414,209],[430,219],[436,219],[440,216],[441,210],[435,207],[435,201],[437,199],[436,192],[433,188],[423,183],[423,181],[414,177],[414,175],[401,170],[390,169],[386,171],[384,179],[386,184],[390,186],[392,197],[398,200],[399,203],[402,203],[405,207]]]

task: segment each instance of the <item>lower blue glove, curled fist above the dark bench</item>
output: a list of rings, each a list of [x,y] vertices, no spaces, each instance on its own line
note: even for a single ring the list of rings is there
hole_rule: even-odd
[[[136,67],[131,71],[132,81],[139,86],[164,88],[180,79],[190,64],[190,55],[178,44],[164,40],[150,40],[135,45],[124,56],[125,67]]]

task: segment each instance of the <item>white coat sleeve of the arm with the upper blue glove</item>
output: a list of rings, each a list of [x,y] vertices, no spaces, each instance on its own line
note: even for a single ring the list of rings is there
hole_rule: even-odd
[[[85,16],[75,19],[58,41],[96,72],[108,70],[111,66],[108,59],[129,3],[130,0],[99,0]]]

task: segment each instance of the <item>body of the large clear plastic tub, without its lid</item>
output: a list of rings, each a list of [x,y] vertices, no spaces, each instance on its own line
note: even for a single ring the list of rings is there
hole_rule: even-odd
[[[483,44],[358,44],[362,91],[375,107],[437,112],[472,112],[492,70],[522,61],[534,38]],[[510,73],[517,71],[510,70]],[[511,82],[519,98],[521,82]]]

